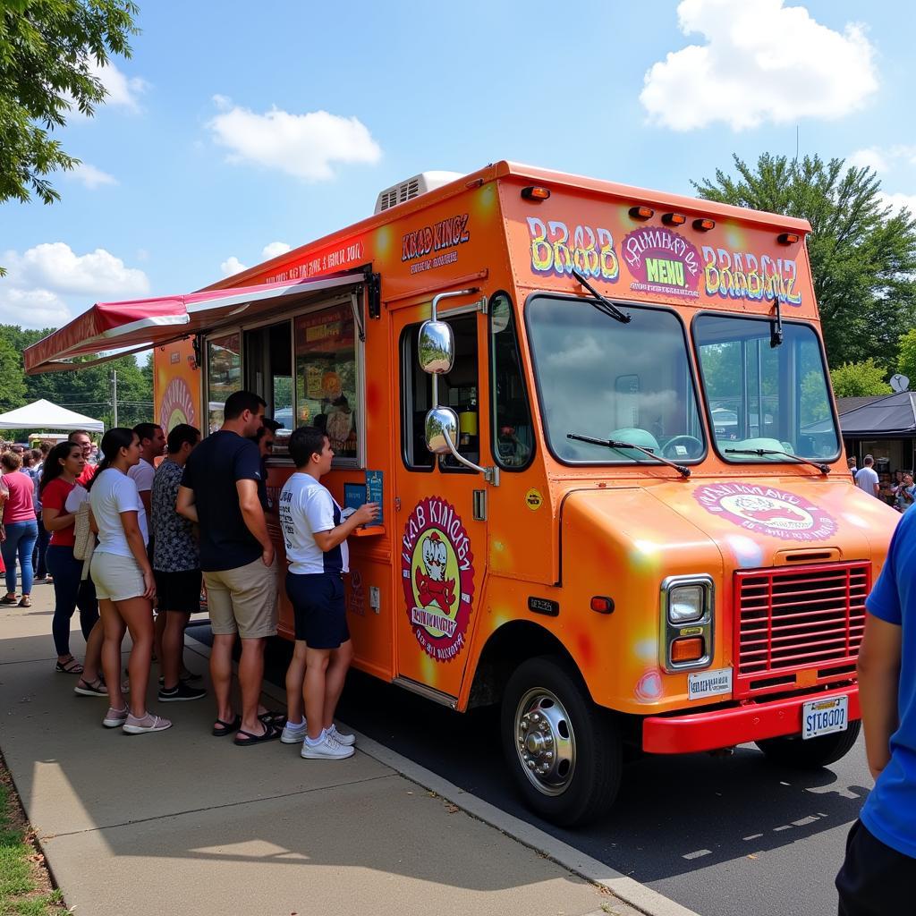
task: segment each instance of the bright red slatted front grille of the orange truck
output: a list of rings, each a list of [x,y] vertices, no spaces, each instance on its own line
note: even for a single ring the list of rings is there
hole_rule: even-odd
[[[868,562],[735,573],[734,695],[852,677],[870,586]]]

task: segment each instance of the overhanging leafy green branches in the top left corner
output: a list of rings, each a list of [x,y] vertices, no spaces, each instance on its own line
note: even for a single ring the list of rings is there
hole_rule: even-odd
[[[129,58],[136,35],[132,0],[5,0],[0,6],[0,203],[31,194],[60,200],[45,178],[80,164],[49,131],[67,123],[75,105],[87,116],[104,102],[94,61]],[[0,268],[0,275],[3,269]]]

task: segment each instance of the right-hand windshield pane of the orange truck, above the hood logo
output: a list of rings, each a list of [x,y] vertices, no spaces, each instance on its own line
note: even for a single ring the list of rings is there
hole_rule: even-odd
[[[840,437],[809,324],[704,314],[693,322],[716,451],[731,463],[835,461]]]

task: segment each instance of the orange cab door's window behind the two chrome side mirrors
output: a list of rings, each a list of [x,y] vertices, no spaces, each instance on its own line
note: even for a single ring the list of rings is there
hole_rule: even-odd
[[[458,452],[480,461],[479,406],[477,399],[477,315],[440,316],[452,325],[455,360],[452,371],[439,376],[439,403],[458,414]],[[432,380],[420,369],[417,338],[420,323],[409,325],[401,337],[401,446],[404,463],[413,470],[431,470],[434,456],[426,448],[425,420],[432,406]],[[440,455],[442,471],[467,470],[452,455]],[[474,472],[469,472],[474,473]]]

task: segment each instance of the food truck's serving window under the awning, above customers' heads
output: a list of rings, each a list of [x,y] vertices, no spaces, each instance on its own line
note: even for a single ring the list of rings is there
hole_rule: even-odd
[[[317,426],[331,440],[335,466],[362,466],[360,345],[349,301],[209,338],[208,431],[222,425],[225,399],[245,387],[264,398],[267,417],[282,424],[275,458],[288,457],[296,427]]]

